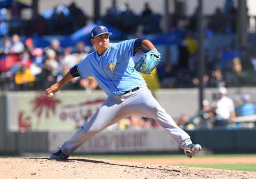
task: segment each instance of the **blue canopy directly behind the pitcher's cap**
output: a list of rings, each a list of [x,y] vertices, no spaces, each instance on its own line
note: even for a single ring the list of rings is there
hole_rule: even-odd
[[[113,34],[111,35],[110,39],[118,39],[118,40],[122,40],[122,39],[126,39],[127,35],[124,34],[122,31],[105,25],[105,24],[101,24],[104,25],[108,28],[109,32],[113,32]],[[91,38],[91,30],[95,27],[95,26],[99,26],[95,23],[90,23],[86,26],[84,26],[83,28],[77,30],[76,32],[74,32],[74,34],[70,35],[70,39],[73,40],[73,42],[79,42],[82,41],[87,45],[90,45],[90,38]]]

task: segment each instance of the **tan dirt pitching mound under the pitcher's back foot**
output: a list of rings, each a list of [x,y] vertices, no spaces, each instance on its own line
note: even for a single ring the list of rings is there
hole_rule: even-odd
[[[256,178],[256,172],[121,162],[115,160],[70,158],[0,158],[0,178]]]

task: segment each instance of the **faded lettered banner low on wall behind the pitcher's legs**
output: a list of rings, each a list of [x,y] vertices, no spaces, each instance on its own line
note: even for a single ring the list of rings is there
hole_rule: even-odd
[[[49,152],[74,133],[50,132],[48,135]],[[179,145],[164,129],[103,131],[81,145],[74,153],[121,153],[146,151],[179,151]]]

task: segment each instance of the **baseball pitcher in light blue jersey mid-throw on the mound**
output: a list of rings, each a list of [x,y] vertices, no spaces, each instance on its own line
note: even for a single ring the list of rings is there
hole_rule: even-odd
[[[111,34],[105,26],[94,27],[91,31],[91,43],[95,51],[71,68],[59,82],[45,90],[47,96],[52,96],[74,77],[92,76],[108,95],[89,122],[52,153],[50,158],[67,159],[69,154],[92,136],[131,115],[154,118],[191,158],[202,149],[201,145],[193,144],[190,136],[175,124],[153,97],[140,75],[140,72],[150,74],[159,63],[161,54],[147,39],[110,43]],[[135,53],[142,47],[149,51],[139,60],[135,60]]]

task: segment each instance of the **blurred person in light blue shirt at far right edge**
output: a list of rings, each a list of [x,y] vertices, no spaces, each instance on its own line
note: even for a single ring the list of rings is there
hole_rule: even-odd
[[[256,106],[251,102],[250,94],[242,95],[243,104],[236,107],[237,116],[249,116],[256,113]]]

